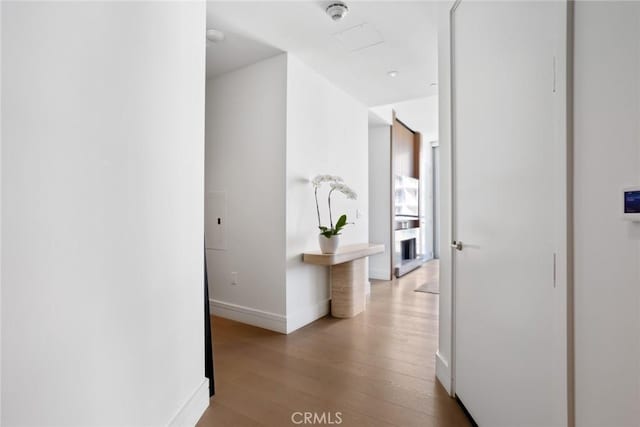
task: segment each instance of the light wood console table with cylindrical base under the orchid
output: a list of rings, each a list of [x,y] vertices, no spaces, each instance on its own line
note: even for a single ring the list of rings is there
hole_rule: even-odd
[[[333,317],[353,317],[364,311],[368,280],[364,259],[382,252],[384,245],[362,243],[340,247],[335,254],[313,251],[302,255],[306,263],[329,267]]]

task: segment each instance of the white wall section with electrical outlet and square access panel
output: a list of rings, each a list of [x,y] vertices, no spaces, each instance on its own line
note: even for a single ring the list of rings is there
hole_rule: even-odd
[[[227,248],[207,250],[212,311],[280,332],[286,330],[286,101],[285,54],[207,81],[206,191],[227,196]],[[205,216],[209,227],[217,221],[211,209]]]

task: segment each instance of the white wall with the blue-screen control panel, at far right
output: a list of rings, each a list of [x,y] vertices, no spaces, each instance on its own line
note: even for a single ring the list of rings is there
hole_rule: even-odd
[[[576,425],[640,419],[640,4],[575,10]]]

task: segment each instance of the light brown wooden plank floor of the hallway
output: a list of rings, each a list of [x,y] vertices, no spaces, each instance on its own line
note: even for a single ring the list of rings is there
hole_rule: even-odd
[[[315,425],[340,412],[347,427],[468,426],[435,379],[438,296],[413,291],[434,275],[432,262],[374,281],[364,313],[289,335],[213,317],[216,395],[198,427],[296,425],[295,412],[324,413]]]

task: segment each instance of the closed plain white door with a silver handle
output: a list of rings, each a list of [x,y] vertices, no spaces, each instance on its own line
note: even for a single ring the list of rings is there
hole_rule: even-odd
[[[452,15],[454,387],[480,426],[567,424],[566,16]]]

